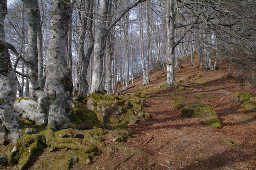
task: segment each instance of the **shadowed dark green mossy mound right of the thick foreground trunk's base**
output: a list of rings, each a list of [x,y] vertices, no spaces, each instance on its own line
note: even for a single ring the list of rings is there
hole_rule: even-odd
[[[99,125],[97,115],[93,111],[75,107],[73,108],[73,115],[70,116],[70,121],[77,129],[93,128]]]

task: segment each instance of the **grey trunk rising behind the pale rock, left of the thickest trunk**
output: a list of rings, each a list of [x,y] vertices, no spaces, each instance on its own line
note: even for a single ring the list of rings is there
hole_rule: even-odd
[[[28,76],[29,96],[35,98],[34,92],[38,88],[38,0],[23,0],[28,11]]]

